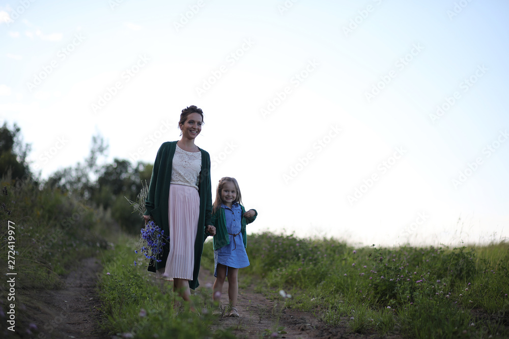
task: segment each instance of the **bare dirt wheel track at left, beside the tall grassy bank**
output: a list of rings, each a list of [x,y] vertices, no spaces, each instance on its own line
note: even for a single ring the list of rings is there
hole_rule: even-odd
[[[100,269],[97,259],[84,259],[69,273],[64,289],[25,294],[26,320],[37,325],[38,338],[109,338],[98,326],[100,300],[95,287]],[[26,334],[25,329],[17,332]]]

